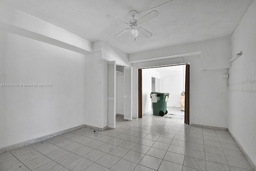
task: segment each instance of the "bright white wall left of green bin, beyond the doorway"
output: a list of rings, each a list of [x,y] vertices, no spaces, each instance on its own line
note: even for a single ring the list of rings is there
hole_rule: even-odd
[[[142,70],[142,114],[152,110],[150,93],[152,92],[152,77],[160,79],[160,73],[152,69]],[[156,89],[158,89],[156,85]]]

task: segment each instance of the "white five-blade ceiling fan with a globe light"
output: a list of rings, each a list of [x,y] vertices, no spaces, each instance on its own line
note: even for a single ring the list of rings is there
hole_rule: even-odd
[[[126,20],[123,20],[121,18],[118,18],[116,16],[112,16],[111,14],[107,15],[108,18],[122,22],[124,24],[129,24],[129,26],[130,26],[129,28],[126,28],[125,30],[116,34],[115,36],[121,36],[122,34],[124,34],[125,32],[127,32],[129,30],[129,33],[134,38],[134,40],[138,36],[139,32],[148,38],[151,37],[152,33],[150,33],[148,30],[145,30],[142,27],[138,27],[138,24],[144,23],[144,22],[158,16],[158,11],[153,10],[138,20],[134,19],[134,17],[137,16],[137,14],[138,14],[136,11],[130,11],[129,14],[132,17],[132,19],[129,22]]]

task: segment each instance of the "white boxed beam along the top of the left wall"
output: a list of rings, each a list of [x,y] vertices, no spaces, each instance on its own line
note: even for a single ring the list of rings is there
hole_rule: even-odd
[[[0,29],[81,54],[92,52],[92,42],[2,3]]]

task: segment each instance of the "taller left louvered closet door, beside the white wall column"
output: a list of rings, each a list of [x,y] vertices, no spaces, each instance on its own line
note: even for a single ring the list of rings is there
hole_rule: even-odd
[[[108,127],[116,127],[116,61],[108,62]]]

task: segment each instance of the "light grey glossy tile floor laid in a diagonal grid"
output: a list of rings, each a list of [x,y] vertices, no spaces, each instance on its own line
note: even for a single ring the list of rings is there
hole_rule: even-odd
[[[117,116],[116,129],[84,127],[1,153],[0,171],[252,170],[228,131],[184,125],[182,112],[168,113]]]

